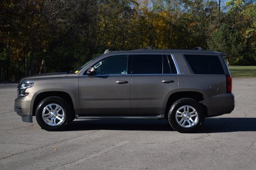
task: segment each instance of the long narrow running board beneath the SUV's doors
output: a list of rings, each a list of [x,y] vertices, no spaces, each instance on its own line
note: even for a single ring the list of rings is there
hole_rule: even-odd
[[[154,116],[80,116],[76,119],[164,119],[164,114]]]

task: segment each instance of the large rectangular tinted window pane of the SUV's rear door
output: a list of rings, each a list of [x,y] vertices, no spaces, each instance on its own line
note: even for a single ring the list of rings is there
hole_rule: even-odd
[[[162,74],[162,55],[133,55],[132,74]]]

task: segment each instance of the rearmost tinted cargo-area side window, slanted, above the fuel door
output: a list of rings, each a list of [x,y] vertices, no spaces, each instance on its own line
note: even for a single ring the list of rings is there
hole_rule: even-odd
[[[224,74],[216,55],[184,55],[195,74]]]

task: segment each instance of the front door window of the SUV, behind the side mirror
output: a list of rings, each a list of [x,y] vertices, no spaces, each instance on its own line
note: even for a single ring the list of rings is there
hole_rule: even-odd
[[[128,55],[113,55],[94,64],[97,75],[127,74]]]

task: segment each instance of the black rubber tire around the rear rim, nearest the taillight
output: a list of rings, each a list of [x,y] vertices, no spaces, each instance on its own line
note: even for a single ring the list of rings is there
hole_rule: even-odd
[[[186,105],[194,107],[198,113],[198,122],[192,127],[182,127],[176,121],[176,111],[180,107],[186,106]],[[196,102],[196,100],[193,100],[191,98],[179,99],[176,102],[174,102],[174,104],[170,107],[170,110],[168,113],[168,121],[172,126],[172,128],[180,133],[193,133],[196,130],[198,130],[204,123],[204,112],[203,112],[202,106],[200,106],[200,104]]]

